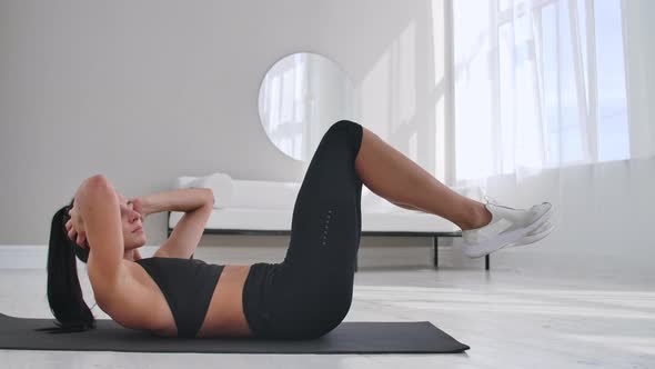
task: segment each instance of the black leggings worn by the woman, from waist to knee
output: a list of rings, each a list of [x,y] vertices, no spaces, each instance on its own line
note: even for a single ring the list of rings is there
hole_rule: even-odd
[[[318,338],[347,315],[362,229],[362,134],[349,120],[330,127],[295,199],[284,261],[251,266],[243,310],[255,337]]]

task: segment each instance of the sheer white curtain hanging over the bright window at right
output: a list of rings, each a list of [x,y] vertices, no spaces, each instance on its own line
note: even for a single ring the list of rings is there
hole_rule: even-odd
[[[598,228],[634,227],[621,217],[635,208],[652,219],[655,123],[644,102],[653,87],[642,82],[653,76],[643,56],[652,41],[637,3],[653,8],[453,1],[453,184],[514,207],[551,201],[555,223],[582,216],[594,242],[619,241]]]

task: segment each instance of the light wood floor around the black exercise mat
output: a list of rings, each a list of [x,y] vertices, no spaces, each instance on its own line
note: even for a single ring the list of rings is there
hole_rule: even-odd
[[[361,268],[345,320],[430,320],[458,355],[224,355],[0,350],[2,368],[655,368],[655,286],[621,275]],[[628,272],[625,270],[624,272]],[[84,275],[82,275],[84,277]],[[87,301],[93,305],[88,280]],[[91,298],[91,299],[89,299]],[[51,318],[46,275],[0,268],[0,311]],[[98,308],[97,318],[108,318]]]

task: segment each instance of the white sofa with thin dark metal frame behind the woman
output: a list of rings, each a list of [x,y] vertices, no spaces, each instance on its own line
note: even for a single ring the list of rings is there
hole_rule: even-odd
[[[179,188],[211,188],[214,210],[205,226],[205,235],[290,235],[293,207],[300,182],[235,180],[226,173],[203,177],[178,177]],[[482,201],[480,188],[452,187],[454,191]],[[180,221],[183,212],[168,213],[168,235]],[[362,236],[420,236],[432,237],[434,266],[439,266],[439,237],[461,237],[453,222],[395,206],[362,187]],[[488,269],[488,257],[486,258]]]

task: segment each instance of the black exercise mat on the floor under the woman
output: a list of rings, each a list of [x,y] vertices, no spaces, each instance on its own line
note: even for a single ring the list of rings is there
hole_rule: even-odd
[[[224,353],[450,353],[468,349],[430,321],[343,321],[312,340],[159,337],[111,319],[98,319],[95,325],[84,332],[52,335],[36,329],[56,327],[54,319],[0,313],[0,349]]]

